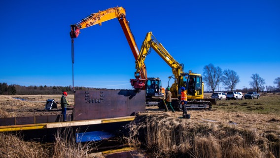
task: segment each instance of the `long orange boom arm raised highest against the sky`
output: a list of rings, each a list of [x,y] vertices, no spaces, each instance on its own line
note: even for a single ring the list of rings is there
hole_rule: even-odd
[[[103,11],[99,11],[97,13],[90,14],[78,23],[70,25],[70,37],[73,40],[74,38],[77,38],[79,36],[80,29],[85,29],[97,24],[101,25],[103,22],[114,18],[117,18],[119,20],[119,23],[123,29],[134,58],[135,60],[137,60],[139,56],[139,49],[129,27],[129,21],[126,19],[126,12],[123,7],[112,7]],[[142,64],[141,66],[141,74],[141,79],[145,79],[147,76],[145,64]]]

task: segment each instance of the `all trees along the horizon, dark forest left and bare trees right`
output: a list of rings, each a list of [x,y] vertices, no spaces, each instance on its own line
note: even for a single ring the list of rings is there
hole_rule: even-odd
[[[240,82],[239,76],[233,70],[226,69],[222,71],[220,67],[215,67],[213,64],[206,65],[203,68],[203,77],[206,85],[211,89],[212,92],[216,89],[219,84],[223,84],[225,89],[233,91]],[[280,91],[280,77],[274,80],[276,86],[264,86],[265,79],[261,78],[259,74],[252,74],[249,85],[251,87],[243,88],[243,92],[256,91],[261,92],[266,88],[267,92]],[[96,90],[105,88],[90,88],[90,87],[75,87],[75,90]],[[62,94],[66,91],[68,94],[74,94],[71,86],[22,86],[18,84],[8,85],[3,82],[0,83],[0,94],[1,95],[38,95],[38,94]]]

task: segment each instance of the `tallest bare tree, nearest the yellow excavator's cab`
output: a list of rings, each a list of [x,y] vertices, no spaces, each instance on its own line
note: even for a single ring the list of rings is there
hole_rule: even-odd
[[[206,65],[203,68],[204,81],[210,86],[212,92],[214,92],[217,84],[219,84],[222,75],[222,69],[220,67],[214,67],[213,64]]]

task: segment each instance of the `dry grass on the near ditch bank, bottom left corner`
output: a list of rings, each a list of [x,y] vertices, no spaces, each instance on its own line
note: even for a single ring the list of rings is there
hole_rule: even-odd
[[[93,143],[75,143],[74,132],[59,129],[53,144],[23,141],[14,134],[0,133],[0,158],[88,158]],[[91,156],[90,158],[95,158]]]

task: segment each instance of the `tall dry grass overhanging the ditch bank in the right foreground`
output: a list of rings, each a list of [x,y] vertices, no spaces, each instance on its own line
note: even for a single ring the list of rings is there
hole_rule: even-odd
[[[169,113],[139,114],[130,139],[153,157],[279,158],[279,136],[233,124],[175,118]]]

